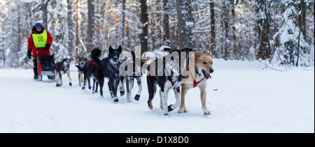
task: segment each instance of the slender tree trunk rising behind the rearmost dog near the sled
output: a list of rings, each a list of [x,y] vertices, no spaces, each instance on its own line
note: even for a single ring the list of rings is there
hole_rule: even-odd
[[[68,52],[69,56],[74,59],[73,54],[73,23],[72,23],[72,0],[68,0]]]

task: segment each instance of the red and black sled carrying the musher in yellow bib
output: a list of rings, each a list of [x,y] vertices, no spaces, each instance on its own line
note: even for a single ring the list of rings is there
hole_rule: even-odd
[[[37,54],[38,54],[37,49]],[[38,81],[43,80],[43,76],[48,76],[48,79],[55,78],[55,54],[52,56],[37,56],[37,73]]]

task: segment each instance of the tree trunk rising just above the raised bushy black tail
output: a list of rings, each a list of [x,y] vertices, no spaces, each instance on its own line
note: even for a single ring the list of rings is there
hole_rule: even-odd
[[[93,45],[94,36],[94,0],[87,0],[87,52],[91,52]]]

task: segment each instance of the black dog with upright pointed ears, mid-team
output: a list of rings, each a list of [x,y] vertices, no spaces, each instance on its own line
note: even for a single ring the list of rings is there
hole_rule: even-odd
[[[118,49],[113,49],[113,47],[110,46],[109,57],[101,61],[97,70],[97,80],[100,86],[100,94],[103,96],[104,78],[106,77],[109,79],[109,91],[113,102],[119,101],[117,97],[117,89],[121,78],[119,68],[123,63],[119,60],[119,56],[122,52],[123,49],[121,46],[119,46]]]

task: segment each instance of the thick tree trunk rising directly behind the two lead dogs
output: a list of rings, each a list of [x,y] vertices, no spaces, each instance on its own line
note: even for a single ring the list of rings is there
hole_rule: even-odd
[[[176,11],[178,19],[178,42],[179,49],[193,48],[192,29],[194,26],[191,0],[176,0]]]

